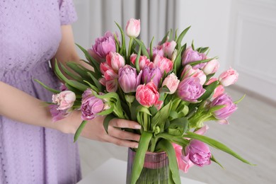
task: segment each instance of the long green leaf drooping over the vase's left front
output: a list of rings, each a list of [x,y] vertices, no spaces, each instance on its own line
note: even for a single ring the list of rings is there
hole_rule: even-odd
[[[151,137],[152,137],[152,133],[150,132],[142,132],[141,134],[141,137],[139,140],[140,144],[135,154],[135,158],[132,166],[132,179],[131,179],[132,184],[135,184],[140,176],[140,173],[144,166],[144,158],[145,158],[146,151],[148,149]]]

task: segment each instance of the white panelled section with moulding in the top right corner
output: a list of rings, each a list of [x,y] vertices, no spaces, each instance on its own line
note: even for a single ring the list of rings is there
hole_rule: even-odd
[[[238,86],[276,101],[276,1],[232,1],[229,62]]]

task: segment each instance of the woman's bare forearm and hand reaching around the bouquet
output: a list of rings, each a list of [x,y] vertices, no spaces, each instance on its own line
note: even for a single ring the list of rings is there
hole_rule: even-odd
[[[69,116],[57,122],[52,122],[50,109],[42,100],[38,100],[27,93],[9,86],[0,81],[0,115],[12,120],[23,122],[29,125],[48,127],[67,134],[74,134],[81,125],[81,112],[74,111]],[[128,120],[111,120],[108,127],[109,134],[103,128],[104,117],[96,117],[90,120],[84,127],[81,136],[101,142],[110,142],[120,146],[137,147],[138,134],[123,132],[117,127],[139,129],[137,122]],[[137,141],[137,142],[132,142]]]

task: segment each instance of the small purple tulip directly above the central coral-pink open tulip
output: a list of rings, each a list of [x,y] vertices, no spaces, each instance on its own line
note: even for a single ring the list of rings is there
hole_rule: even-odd
[[[162,73],[159,68],[150,69],[149,67],[145,67],[143,69],[142,82],[144,84],[147,84],[152,80],[155,86],[158,87],[161,78],[162,78]]]

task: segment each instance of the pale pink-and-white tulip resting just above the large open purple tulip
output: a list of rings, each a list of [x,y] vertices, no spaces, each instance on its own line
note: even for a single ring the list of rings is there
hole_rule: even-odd
[[[200,84],[205,84],[205,81],[207,79],[204,72],[200,69],[192,69],[192,66],[190,64],[187,64],[185,68],[182,71],[181,77],[183,79],[186,79],[188,77],[198,77],[200,79]]]

